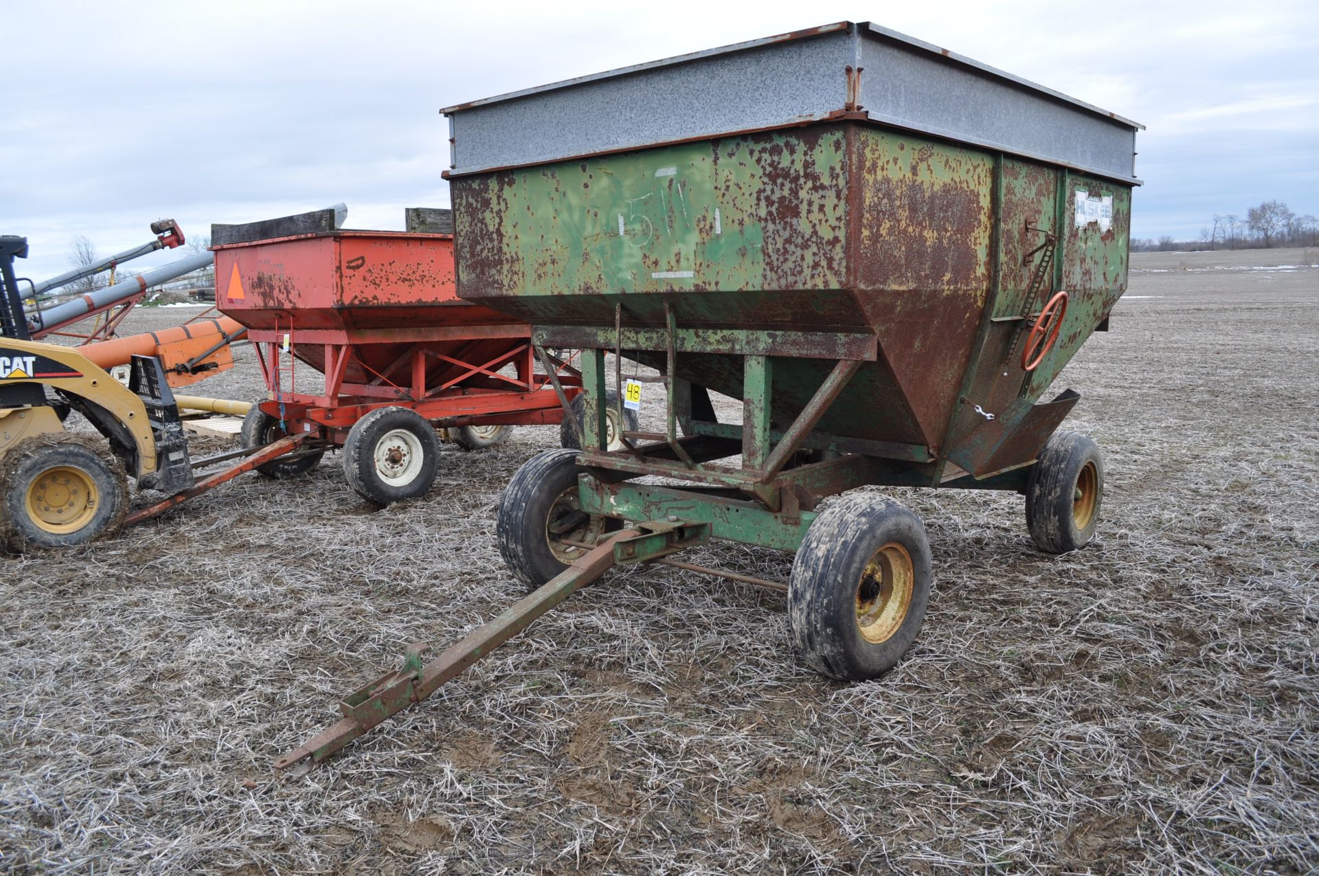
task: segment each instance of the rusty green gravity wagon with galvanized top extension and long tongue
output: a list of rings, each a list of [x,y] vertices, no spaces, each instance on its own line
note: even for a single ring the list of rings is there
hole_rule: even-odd
[[[281,765],[613,565],[711,538],[797,551],[798,653],[873,678],[915,639],[931,561],[881,493],[826,501],[857,487],[1017,491],[1041,549],[1093,536],[1103,460],[1058,430],[1078,394],[1049,388],[1126,288],[1141,125],[853,22],[443,112],[458,293],[530,323],[542,356],[582,351],[582,450],[533,458],[501,501],[534,592],[430,664],[414,646]],[[608,409],[638,396],[662,427],[607,450]]]

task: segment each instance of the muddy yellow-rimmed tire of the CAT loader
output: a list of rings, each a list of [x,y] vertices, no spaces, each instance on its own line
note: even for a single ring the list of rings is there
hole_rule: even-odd
[[[0,459],[0,544],[22,553],[112,538],[128,513],[128,476],[108,447],[41,435]]]

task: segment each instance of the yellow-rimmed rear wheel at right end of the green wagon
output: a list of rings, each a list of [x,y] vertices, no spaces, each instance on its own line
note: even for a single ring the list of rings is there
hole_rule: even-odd
[[[1039,453],[1026,482],[1026,528],[1050,554],[1084,548],[1095,537],[1104,501],[1104,458],[1075,431],[1059,431]]]

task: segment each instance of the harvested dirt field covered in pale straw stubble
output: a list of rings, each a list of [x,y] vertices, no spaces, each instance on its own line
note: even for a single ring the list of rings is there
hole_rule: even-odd
[[[328,456],[0,558],[0,871],[1316,872],[1314,255],[1134,259],[1112,332],[1055,384],[1107,454],[1088,549],[1038,553],[1016,495],[892,491],[935,590],[869,683],[802,668],[780,595],[613,573],[276,780],[409,641],[518,595],[495,515],[547,427],[447,446],[430,495],[384,511]],[[248,350],[197,387],[259,389]],[[731,544],[692,559],[790,569]]]

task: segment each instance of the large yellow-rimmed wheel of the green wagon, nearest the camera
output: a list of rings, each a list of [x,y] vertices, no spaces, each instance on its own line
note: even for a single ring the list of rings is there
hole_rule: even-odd
[[[793,561],[793,644],[826,675],[876,678],[915,641],[930,582],[921,520],[881,496],[844,496],[815,518]]]

